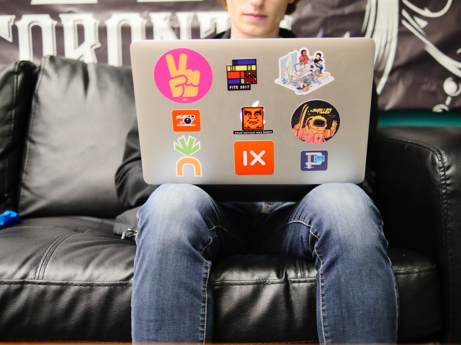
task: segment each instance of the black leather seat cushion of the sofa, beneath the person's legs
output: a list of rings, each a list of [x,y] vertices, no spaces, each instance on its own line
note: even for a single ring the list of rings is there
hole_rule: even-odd
[[[0,315],[8,315],[0,318],[1,340],[130,341],[136,244],[113,236],[112,227],[109,220],[54,217],[0,230]],[[399,340],[437,333],[434,263],[408,250],[388,255],[400,293]],[[316,341],[315,273],[313,261],[283,255],[213,263],[214,341]]]

